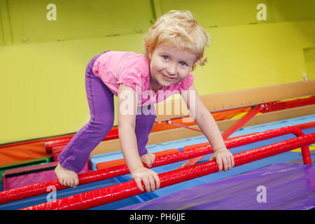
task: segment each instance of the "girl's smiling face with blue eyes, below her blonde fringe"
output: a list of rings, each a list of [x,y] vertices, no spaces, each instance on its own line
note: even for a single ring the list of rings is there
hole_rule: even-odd
[[[179,83],[189,75],[197,55],[183,48],[158,45],[149,54],[151,88],[160,90],[163,86]]]

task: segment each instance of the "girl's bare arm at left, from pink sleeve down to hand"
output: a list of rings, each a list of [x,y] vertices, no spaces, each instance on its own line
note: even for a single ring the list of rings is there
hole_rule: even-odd
[[[118,135],[120,146],[126,165],[136,181],[139,190],[144,189],[141,181],[146,186],[146,191],[151,192],[160,188],[158,174],[144,167],[138,152],[137,137],[134,132],[137,116],[138,94],[126,85],[120,84],[118,89]],[[156,183],[156,184],[155,184]]]

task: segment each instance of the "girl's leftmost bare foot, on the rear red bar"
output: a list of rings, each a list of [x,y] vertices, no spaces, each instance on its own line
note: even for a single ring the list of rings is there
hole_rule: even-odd
[[[70,169],[62,167],[59,162],[55,168],[55,175],[62,186],[70,188],[76,188],[76,186],[78,186],[78,174]]]

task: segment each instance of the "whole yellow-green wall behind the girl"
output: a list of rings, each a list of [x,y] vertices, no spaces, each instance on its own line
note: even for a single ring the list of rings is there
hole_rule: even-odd
[[[45,18],[48,3],[56,21]],[[314,1],[0,0],[0,144],[77,132],[90,118],[89,60],[142,52],[155,16],[171,9],[191,10],[211,35],[209,62],[194,72],[200,94],[315,78]]]

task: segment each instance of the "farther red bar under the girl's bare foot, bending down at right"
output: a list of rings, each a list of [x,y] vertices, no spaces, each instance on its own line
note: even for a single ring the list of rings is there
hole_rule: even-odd
[[[284,134],[295,134],[304,135],[304,133],[295,126],[281,127],[274,130],[268,130],[265,132],[257,132],[253,134],[246,134],[241,137],[234,137],[225,140],[225,145],[227,148],[235,148],[237,146],[244,146],[246,144],[251,144],[256,141],[262,141],[265,139],[270,139],[273,137],[278,137]],[[180,151],[178,153],[172,153],[169,155],[162,155],[155,158],[155,162],[152,167],[158,167],[162,165],[167,165],[174,162],[179,162],[183,160],[188,160],[190,158],[195,158],[200,155],[206,155],[213,153],[211,146],[202,146],[199,148],[193,148],[188,151]],[[309,146],[302,147],[302,156],[305,165],[311,165],[311,155],[309,153]],[[106,169],[97,170],[94,172],[88,172],[85,174],[79,174],[79,184],[83,185],[85,183],[92,183],[94,181],[102,181],[104,179],[110,179],[116,176],[129,174],[129,169],[127,165],[120,165],[117,167],[110,167]],[[55,186],[56,190],[63,190],[67,187],[59,184],[57,179],[52,181],[45,181],[42,183],[36,183],[31,186],[24,186],[20,188],[3,190],[0,192],[0,204],[13,202],[16,200],[22,200],[27,197],[34,197],[36,195],[43,195],[47,193],[47,188],[50,186]]]

